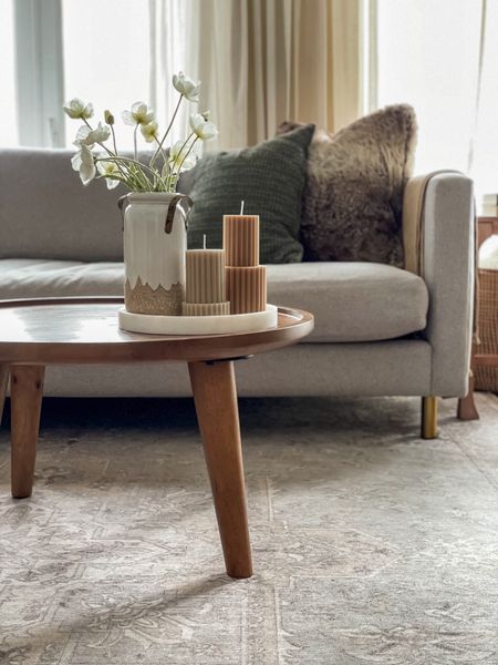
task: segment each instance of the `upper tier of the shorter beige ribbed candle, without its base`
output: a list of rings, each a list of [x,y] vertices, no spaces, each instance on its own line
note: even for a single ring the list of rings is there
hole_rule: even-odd
[[[225,250],[188,249],[186,259],[187,303],[224,303],[226,296]]]

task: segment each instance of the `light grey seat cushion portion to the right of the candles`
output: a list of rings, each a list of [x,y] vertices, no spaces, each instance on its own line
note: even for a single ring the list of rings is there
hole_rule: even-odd
[[[314,314],[313,341],[393,339],[425,328],[427,287],[407,270],[355,262],[302,263],[267,269],[270,303]]]

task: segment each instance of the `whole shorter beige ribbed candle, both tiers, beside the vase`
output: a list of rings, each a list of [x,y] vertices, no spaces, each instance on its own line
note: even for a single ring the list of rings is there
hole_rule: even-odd
[[[225,249],[188,249],[184,316],[230,314],[227,300]]]

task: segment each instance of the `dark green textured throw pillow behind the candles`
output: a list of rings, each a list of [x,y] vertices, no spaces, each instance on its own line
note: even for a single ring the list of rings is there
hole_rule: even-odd
[[[222,245],[222,216],[260,216],[262,264],[302,259],[299,242],[301,196],[307,178],[308,146],[314,125],[237,152],[206,155],[195,167],[189,193],[188,247]]]

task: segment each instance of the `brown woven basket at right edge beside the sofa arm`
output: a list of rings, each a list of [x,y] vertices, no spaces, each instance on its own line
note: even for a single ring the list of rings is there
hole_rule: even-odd
[[[479,270],[477,325],[479,355],[498,355],[498,270]],[[498,392],[498,367],[476,367],[476,390]]]

